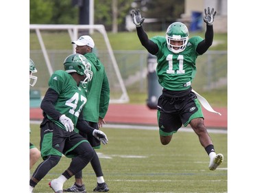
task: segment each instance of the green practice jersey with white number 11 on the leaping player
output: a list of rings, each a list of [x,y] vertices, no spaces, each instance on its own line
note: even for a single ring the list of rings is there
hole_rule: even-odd
[[[186,49],[178,54],[168,49],[164,36],[154,36],[151,41],[159,47],[156,54],[158,63],[156,73],[160,85],[170,91],[184,91],[191,87],[197,71],[195,60],[199,56],[196,48],[203,38],[200,36],[190,38]]]

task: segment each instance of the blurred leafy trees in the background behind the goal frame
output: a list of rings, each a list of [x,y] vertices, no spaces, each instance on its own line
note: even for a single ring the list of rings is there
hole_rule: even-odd
[[[30,0],[29,23],[31,24],[80,24],[79,6],[74,2],[89,0]],[[133,7],[132,7],[133,6]],[[107,31],[125,30],[125,16],[133,8],[140,8],[146,18],[158,19],[157,24],[171,23],[184,12],[180,0],[95,0],[95,24],[103,24]],[[158,28],[158,27],[157,27]],[[160,28],[160,27],[159,27]],[[160,29],[157,29],[160,30]]]

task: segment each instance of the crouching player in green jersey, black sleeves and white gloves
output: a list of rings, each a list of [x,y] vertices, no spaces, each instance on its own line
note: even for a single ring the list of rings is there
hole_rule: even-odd
[[[74,131],[74,127],[93,135],[103,144],[108,144],[105,133],[88,126],[83,117],[87,100],[84,88],[91,78],[90,64],[81,54],[66,57],[64,70],[55,71],[51,75],[49,89],[40,105],[44,115],[40,124],[40,150],[43,161],[29,181],[30,192],[49,170],[58,164],[62,155],[73,159],[69,168],[49,183],[57,193],[63,192],[64,182],[93,159],[95,151],[82,135]]]

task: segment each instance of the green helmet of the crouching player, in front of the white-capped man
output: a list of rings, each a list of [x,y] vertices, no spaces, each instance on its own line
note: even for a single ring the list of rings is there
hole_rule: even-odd
[[[88,63],[88,60],[86,60],[86,57],[82,54],[71,54],[67,56],[63,64],[66,72],[76,72],[79,75],[85,76],[85,79],[81,81],[83,87],[86,87],[86,83],[89,82],[93,77],[91,65]]]

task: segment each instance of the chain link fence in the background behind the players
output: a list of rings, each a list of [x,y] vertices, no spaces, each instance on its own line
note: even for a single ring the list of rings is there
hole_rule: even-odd
[[[105,56],[104,51],[98,52]],[[49,60],[54,70],[63,69],[62,63],[71,50],[47,50]],[[147,56],[148,52],[143,50],[114,50],[121,77],[127,91],[138,91],[147,93]],[[41,50],[31,50],[30,57],[33,58],[38,69],[38,82],[34,89],[40,89],[42,95],[48,87],[49,73],[45,70],[45,62]],[[102,60],[103,61],[103,60]],[[103,62],[103,65],[106,65]],[[110,80],[115,76],[112,68],[106,67],[106,73]],[[112,81],[110,81],[112,84]],[[212,89],[227,89],[228,87],[228,53],[227,51],[208,51],[197,58],[197,74],[193,81],[193,89],[196,91],[211,91]]]

